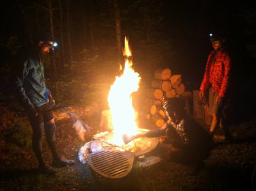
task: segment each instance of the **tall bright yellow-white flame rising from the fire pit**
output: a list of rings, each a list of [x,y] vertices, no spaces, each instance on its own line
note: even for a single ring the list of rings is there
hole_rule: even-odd
[[[123,134],[136,134],[137,126],[135,123],[135,112],[132,107],[132,93],[138,91],[140,75],[132,69],[131,50],[129,49],[128,40],[125,37],[125,59],[124,72],[120,77],[116,77],[114,84],[111,86],[108,102],[114,126],[114,136],[112,142],[123,144]]]

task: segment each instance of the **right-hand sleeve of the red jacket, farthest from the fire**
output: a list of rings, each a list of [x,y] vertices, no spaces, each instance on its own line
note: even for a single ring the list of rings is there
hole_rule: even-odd
[[[220,93],[219,96],[225,96],[227,92],[227,88],[230,84],[230,67],[231,67],[231,59],[230,56],[225,56],[225,59],[223,61],[223,65],[225,67],[224,77],[221,83]]]

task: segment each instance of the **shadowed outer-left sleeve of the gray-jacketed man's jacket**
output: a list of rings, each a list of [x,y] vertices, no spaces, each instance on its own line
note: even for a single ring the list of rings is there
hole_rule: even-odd
[[[28,96],[26,95],[25,89],[22,87],[23,80],[28,75],[29,70],[30,70],[30,63],[29,63],[29,60],[26,60],[24,62],[24,68],[22,70],[22,73],[20,75],[17,74],[16,80],[15,80],[15,88],[16,88],[18,96],[22,102],[22,105],[24,105],[25,108],[33,108],[34,107],[33,103],[30,102]]]

